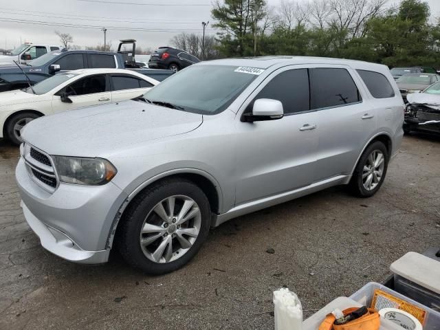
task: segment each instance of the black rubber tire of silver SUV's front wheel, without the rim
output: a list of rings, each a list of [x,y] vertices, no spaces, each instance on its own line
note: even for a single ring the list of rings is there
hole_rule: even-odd
[[[164,199],[174,195],[190,197],[199,206],[201,226],[197,239],[189,250],[174,261],[157,263],[146,257],[140,245],[140,230],[147,214]],[[208,237],[211,211],[208,198],[199,186],[187,179],[164,179],[140,192],[124,212],[115,244],[126,263],[147,274],[160,275],[173,272],[183,267],[192,259]]]

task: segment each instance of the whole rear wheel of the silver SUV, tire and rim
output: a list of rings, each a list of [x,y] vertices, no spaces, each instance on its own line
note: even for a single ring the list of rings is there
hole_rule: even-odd
[[[359,197],[375,195],[384,183],[388,160],[388,151],[383,142],[370,144],[362,153],[351,177],[352,192]]]

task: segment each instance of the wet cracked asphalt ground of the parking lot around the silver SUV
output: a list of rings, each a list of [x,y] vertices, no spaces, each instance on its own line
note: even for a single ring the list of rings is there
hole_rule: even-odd
[[[438,137],[404,137],[370,199],[337,187],[234,219],[157,277],[118,255],[86,266],[43,250],[19,206],[18,157],[0,141],[0,329],[273,329],[275,289],[296,292],[307,317],[440,243]]]

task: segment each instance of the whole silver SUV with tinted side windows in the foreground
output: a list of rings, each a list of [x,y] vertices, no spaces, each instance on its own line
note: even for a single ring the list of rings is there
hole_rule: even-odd
[[[17,182],[50,252],[151,274],[217,226],[330,186],[382,186],[404,103],[383,65],[270,57],[199,63],[135,100],[33,120]]]

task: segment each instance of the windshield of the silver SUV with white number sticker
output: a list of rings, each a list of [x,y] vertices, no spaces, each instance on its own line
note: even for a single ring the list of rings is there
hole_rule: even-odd
[[[220,113],[257,77],[237,69],[239,67],[226,65],[187,67],[148,91],[144,97],[151,102],[173,104],[188,112]],[[262,69],[256,70],[263,72]]]

